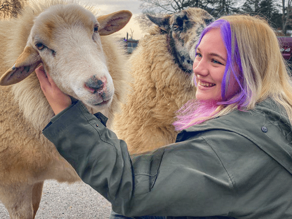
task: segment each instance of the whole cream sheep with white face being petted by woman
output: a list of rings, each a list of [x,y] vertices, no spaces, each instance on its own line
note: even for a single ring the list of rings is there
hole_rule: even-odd
[[[80,180],[41,133],[54,112],[36,67],[42,63],[57,86],[92,113],[103,112],[108,127],[123,101],[124,52],[107,35],[123,28],[131,13],[95,16],[93,8],[53,0],[0,21],[0,200],[12,219],[35,218],[45,180]]]

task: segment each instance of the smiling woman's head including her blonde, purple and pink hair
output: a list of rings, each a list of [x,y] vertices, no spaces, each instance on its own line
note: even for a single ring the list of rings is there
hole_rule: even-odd
[[[242,28],[241,23],[247,27]],[[197,44],[193,65],[197,100],[190,100],[178,111],[173,124],[176,129],[201,124],[235,109],[254,109],[267,97],[285,107],[292,121],[291,102],[283,101],[291,98],[291,82],[282,56],[274,49],[279,47],[274,37],[273,29],[257,17],[227,16],[207,26]]]

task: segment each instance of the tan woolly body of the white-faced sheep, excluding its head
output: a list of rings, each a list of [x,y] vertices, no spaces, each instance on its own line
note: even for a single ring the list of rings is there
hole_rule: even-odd
[[[55,4],[67,3],[54,0],[29,5],[18,18],[0,22],[0,76],[11,69],[24,51],[34,18]],[[116,38],[104,36],[100,40],[115,87],[110,108],[104,110],[110,127],[113,114],[124,99],[128,77],[125,57]],[[0,200],[12,219],[34,219],[45,180],[73,183],[80,178],[41,133],[54,112],[35,72],[17,84],[0,87],[0,98]],[[94,113],[98,109],[89,110]]]

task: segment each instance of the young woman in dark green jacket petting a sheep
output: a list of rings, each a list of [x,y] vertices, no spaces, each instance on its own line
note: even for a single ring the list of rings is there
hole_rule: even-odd
[[[292,85],[273,29],[220,18],[202,32],[193,70],[197,100],[178,113],[177,142],[130,158],[38,69],[56,114],[43,134],[118,214],[292,218]]]

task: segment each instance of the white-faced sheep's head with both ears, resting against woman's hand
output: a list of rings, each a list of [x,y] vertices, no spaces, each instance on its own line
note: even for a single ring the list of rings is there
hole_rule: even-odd
[[[76,4],[48,8],[35,19],[23,53],[0,85],[22,81],[42,63],[63,92],[92,107],[108,107],[114,87],[100,36],[122,29],[131,15],[119,11],[96,18]]]

